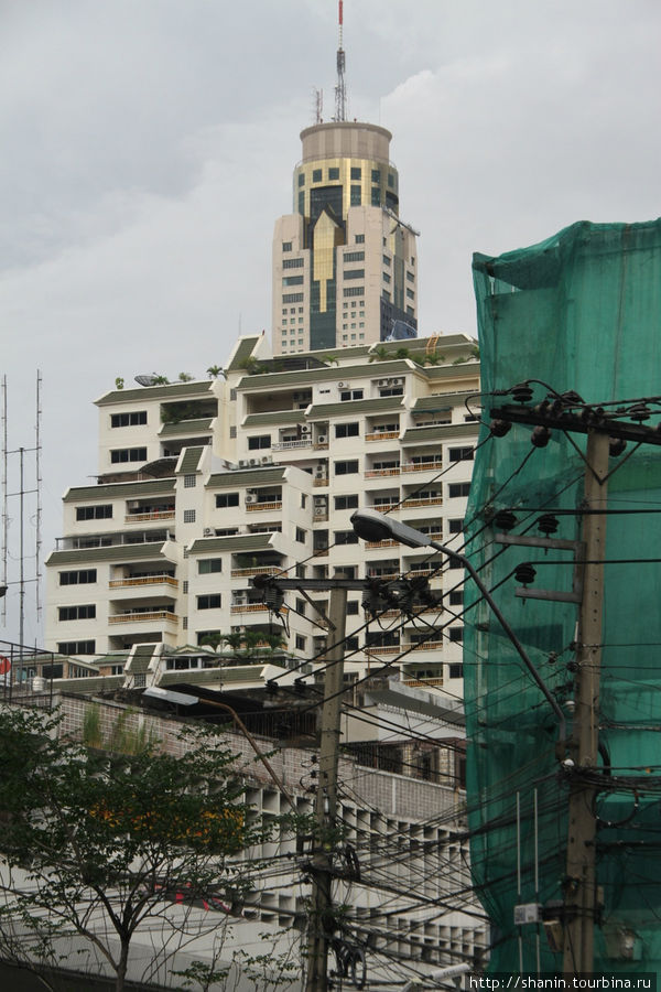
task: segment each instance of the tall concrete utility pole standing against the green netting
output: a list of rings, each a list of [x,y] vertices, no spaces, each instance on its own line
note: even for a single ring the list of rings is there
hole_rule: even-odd
[[[607,434],[587,435],[584,508],[606,510],[608,496]],[[606,514],[588,513],[583,518],[583,599],[578,616],[574,727],[570,753],[578,775],[570,786],[567,869],[564,893],[563,972],[593,971],[596,917],[595,851],[597,821],[594,808],[597,789],[585,781],[596,769],[599,748],[599,679],[602,667],[602,616],[604,606],[604,558]]]

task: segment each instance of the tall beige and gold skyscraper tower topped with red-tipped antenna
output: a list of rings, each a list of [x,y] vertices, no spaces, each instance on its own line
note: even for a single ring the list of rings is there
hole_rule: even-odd
[[[335,117],[301,132],[293,213],[273,235],[273,353],[373,344],[418,327],[416,237],[399,217],[392,134],[346,120],[343,4]],[[405,327],[403,327],[405,325]]]

